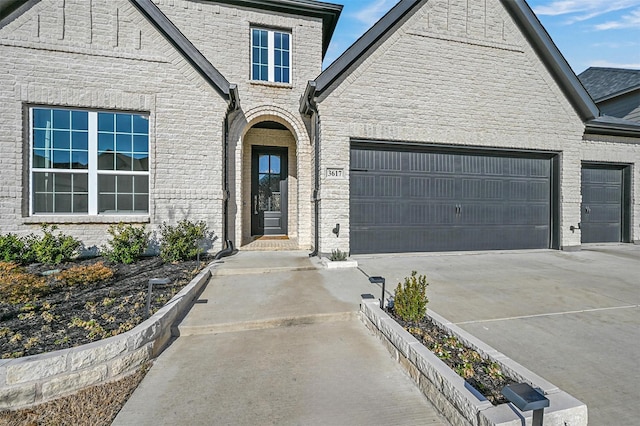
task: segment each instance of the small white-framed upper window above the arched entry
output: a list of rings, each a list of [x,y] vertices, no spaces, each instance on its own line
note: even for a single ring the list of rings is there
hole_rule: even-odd
[[[251,29],[251,79],[291,82],[291,34]]]

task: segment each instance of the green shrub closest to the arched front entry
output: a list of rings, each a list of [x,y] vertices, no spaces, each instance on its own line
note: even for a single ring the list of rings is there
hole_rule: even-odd
[[[160,225],[160,257],[165,262],[177,262],[193,259],[198,255],[200,248],[198,241],[207,233],[207,224],[204,221],[191,222],[181,220],[176,226],[162,223]]]

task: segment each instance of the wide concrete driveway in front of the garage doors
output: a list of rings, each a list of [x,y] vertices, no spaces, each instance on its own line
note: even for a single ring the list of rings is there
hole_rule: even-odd
[[[585,402],[589,424],[640,424],[640,246],[355,258],[391,292],[426,274],[428,309]]]

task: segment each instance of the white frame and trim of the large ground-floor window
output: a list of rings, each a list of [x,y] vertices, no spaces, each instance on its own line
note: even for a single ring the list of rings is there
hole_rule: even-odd
[[[89,158],[89,165],[87,169],[56,169],[56,168],[38,168],[37,171],[38,172],[49,172],[49,173],[86,173],[88,174],[88,178],[87,178],[87,185],[88,185],[88,189],[89,189],[89,200],[88,200],[88,212],[87,213],[36,213],[34,210],[34,205],[33,205],[33,194],[34,194],[34,182],[33,182],[33,174],[35,172],[34,167],[33,167],[33,150],[34,150],[34,140],[33,140],[33,110],[35,108],[45,108],[45,109],[70,109],[72,111],[86,111],[88,113],[88,128],[87,128],[87,132],[88,132],[88,158]],[[109,212],[109,213],[99,213],[98,212],[98,174],[110,174],[110,175],[122,175],[123,171],[120,170],[100,170],[98,171],[98,110],[85,110],[82,108],[61,108],[61,107],[57,107],[57,106],[50,106],[50,105],[42,105],[42,106],[31,106],[29,108],[29,216],[33,217],[33,218],[39,218],[39,217],[79,217],[79,218],[88,218],[88,217],[105,217],[105,219],[108,216],[117,216],[117,217],[131,217],[131,218],[137,218],[137,217],[148,217],[149,216],[149,212],[151,210],[151,187],[149,186],[149,205],[147,206],[147,211],[146,212],[140,212],[140,213],[135,213],[135,212],[123,212],[123,213],[114,213],[114,212]],[[110,113],[114,113],[117,114],[118,112],[114,112],[114,111],[105,111],[105,112],[110,112]],[[144,113],[130,113],[130,112],[125,112],[126,114],[141,114],[141,115],[145,115]],[[148,117],[148,116],[147,116]],[[149,138],[149,144],[151,143],[151,136],[148,135]],[[151,159],[151,150],[149,147],[149,159]],[[92,158],[94,158],[95,160],[91,160]],[[149,166],[149,168],[151,168],[151,166]],[[148,171],[126,171],[127,175],[130,176],[148,176],[149,177],[149,184],[151,184],[151,170]],[[92,190],[93,188],[93,190]],[[112,221],[110,221],[112,222]]]

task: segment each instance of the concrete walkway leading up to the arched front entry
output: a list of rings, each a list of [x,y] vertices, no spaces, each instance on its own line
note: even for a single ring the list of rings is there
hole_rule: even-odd
[[[222,259],[114,425],[445,425],[357,318],[380,289],[306,252]]]

